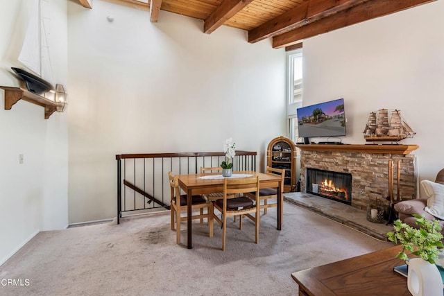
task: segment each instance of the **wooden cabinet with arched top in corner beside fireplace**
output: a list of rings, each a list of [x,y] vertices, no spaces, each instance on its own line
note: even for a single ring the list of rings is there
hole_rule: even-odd
[[[284,192],[296,189],[296,145],[287,137],[276,137],[268,143],[266,165],[285,170]]]

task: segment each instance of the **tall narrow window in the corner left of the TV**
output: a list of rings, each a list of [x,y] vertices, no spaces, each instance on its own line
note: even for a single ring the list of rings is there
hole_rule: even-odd
[[[298,119],[296,118],[296,109],[302,107],[302,49],[288,53],[287,60],[287,119],[289,120],[290,139],[296,143],[298,139]]]

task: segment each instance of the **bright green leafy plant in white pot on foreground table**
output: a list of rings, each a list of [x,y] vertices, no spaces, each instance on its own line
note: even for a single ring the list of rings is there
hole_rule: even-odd
[[[393,223],[395,231],[387,233],[388,241],[402,245],[402,250],[396,258],[408,260],[409,256],[406,251],[410,251],[411,254],[420,256],[425,261],[435,263],[440,253],[438,248],[444,247],[441,241],[444,238],[441,234],[441,226],[438,220],[428,220],[425,215],[413,214],[413,216],[419,228],[411,227],[398,219]]]

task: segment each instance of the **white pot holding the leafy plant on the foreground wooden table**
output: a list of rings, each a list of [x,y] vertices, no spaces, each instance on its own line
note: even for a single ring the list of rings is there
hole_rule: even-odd
[[[443,281],[438,268],[420,258],[409,261],[407,287],[413,296],[443,296]]]

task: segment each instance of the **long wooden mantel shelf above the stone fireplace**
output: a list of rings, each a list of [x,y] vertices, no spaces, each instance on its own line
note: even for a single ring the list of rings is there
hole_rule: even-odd
[[[418,145],[382,145],[382,144],[343,144],[343,145],[325,145],[309,144],[296,145],[301,150],[313,151],[332,151],[332,152],[357,152],[357,153],[381,153],[381,154],[410,154],[413,150],[419,148]]]

